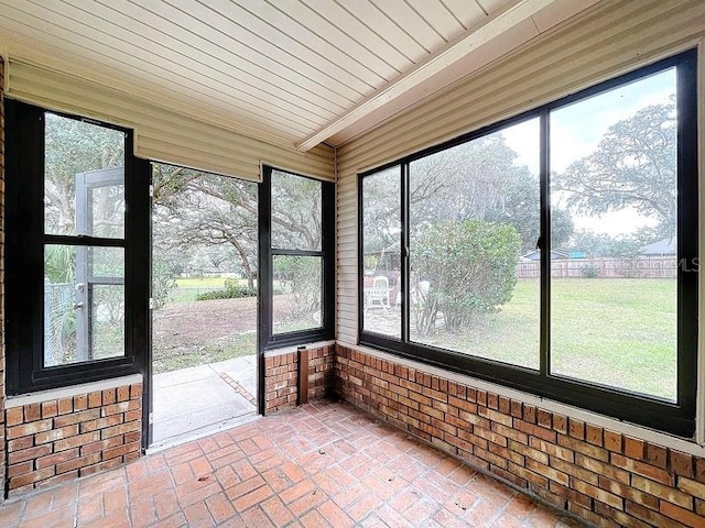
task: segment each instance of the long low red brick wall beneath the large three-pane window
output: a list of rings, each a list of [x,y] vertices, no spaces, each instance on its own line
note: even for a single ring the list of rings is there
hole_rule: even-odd
[[[705,527],[705,459],[336,346],[340,397],[605,527]]]

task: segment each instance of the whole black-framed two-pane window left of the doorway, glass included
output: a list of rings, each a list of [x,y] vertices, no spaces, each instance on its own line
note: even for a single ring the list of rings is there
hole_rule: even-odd
[[[149,172],[131,132],[6,105],[9,393],[138,372]]]

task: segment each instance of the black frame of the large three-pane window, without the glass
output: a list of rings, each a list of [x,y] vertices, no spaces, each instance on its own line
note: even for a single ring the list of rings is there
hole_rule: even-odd
[[[618,86],[638,80],[660,70],[676,67],[677,78],[677,399],[663,399],[629,393],[596,383],[561,377],[549,373],[550,365],[550,204],[549,164],[551,110],[579,101]],[[620,75],[567,97],[502,120],[477,131],[421,152],[411,154],[358,175],[358,255],[364,254],[362,187],[367,176],[399,165],[400,207],[402,220],[402,339],[394,339],[364,330],[364,292],[358,288],[358,337],[360,344],[384,350],[395,355],[421,361],[433,366],[471,375],[488,382],[524,391],[541,397],[599,413],[628,422],[647,426],[692,439],[695,435],[697,387],[697,322],[698,322],[698,157],[697,157],[697,52],[690,50],[654,64]],[[541,186],[541,346],[540,370],[470,356],[452,350],[424,345],[409,339],[409,166],[414,160],[497,132],[529,119],[540,119],[540,186]],[[362,280],[364,263],[358,258],[358,278]]]

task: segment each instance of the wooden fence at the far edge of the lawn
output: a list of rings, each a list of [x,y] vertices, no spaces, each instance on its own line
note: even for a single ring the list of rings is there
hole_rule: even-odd
[[[517,278],[539,278],[541,264],[519,262]],[[554,258],[551,276],[554,278],[675,278],[675,256],[637,258]]]

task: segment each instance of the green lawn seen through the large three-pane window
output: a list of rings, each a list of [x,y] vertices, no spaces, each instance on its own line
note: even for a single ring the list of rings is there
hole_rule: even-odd
[[[675,280],[556,279],[551,297],[552,373],[675,399]],[[463,334],[419,341],[538,369],[539,283]]]

